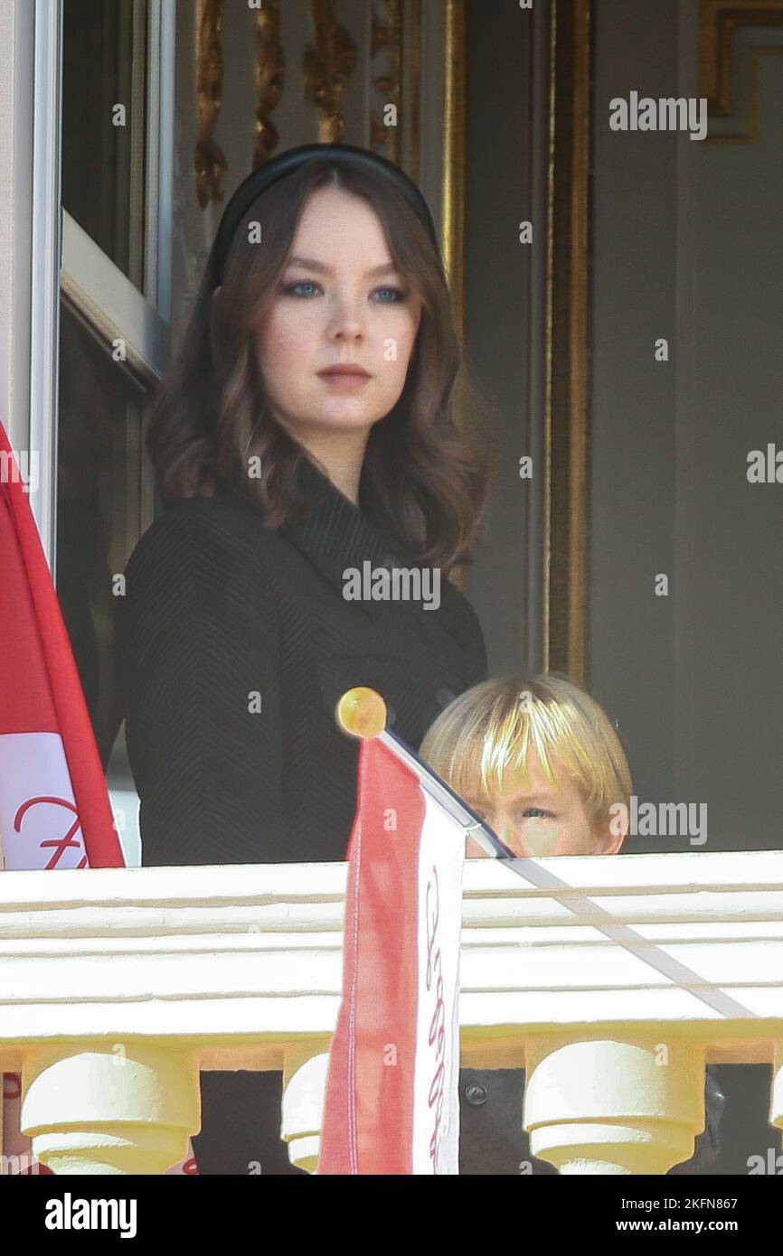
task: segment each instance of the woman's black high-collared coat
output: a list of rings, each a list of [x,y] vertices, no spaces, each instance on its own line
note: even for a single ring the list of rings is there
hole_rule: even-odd
[[[478,618],[445,577],[437,609],[343,598],[346,569],[410,558],[310,462],[300,484],[326,500],[277,531],[219,494],[166,510],[131,556],[117,679],[145,865],[344,859],[358,744],[338,698],[377,690],[417,750],[486,677]],[[300,1172],[279,1139],[279,1073],[204,1073],[201,1095],[202,1173]]]

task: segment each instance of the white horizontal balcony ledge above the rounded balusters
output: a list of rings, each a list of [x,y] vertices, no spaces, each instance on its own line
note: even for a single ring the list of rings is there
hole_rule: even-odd
[[[202,1069],[328,1049],[346,864],[13,872],[0,879],[0,1065],[25,1044],[166,1037]],[[612,1025],[772,1061],[783,852],[469,860],[463,1061]]]

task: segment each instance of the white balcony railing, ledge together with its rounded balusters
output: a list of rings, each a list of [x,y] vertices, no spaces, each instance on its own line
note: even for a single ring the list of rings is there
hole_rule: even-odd
[[[342,977],[346,864],[6,872],[0,1068],[55,1173],[162,1173],[199,1071],[282,1069],[313,1171]],[[665,1173],[705,1063],[770,1063],[783,1127],[783,852],[469,860],[463,1064],[524,1068],[530,1149]]]

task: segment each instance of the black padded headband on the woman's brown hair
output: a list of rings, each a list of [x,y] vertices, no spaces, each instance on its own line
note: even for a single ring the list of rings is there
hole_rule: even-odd
[[[217,288],[222,283],[222,273],[234,234],[259,192],[270,187],[271,183],[277,183],[279,178],[293,175],[305,162],[315,158],[320,158],[322,161],[327,158],[338,166],[367,170],[371,173],[381,172],[386,178],[390,178],[397,191],[402,192],[417,217],[424,222],[436,251],[440,251],[430,207],[413,180],[408,178],[403,170],[395,166],[393,162],[387,161],[386,157],[370,152],[368,148],[354,148],[353,144],[303,144],[300,148],[288,148],[285,152],[278,153],[277,157],[271,157],[264,162],[258,170],[248,175],[231,193],[229,203],[222,211],[212,246],[214,288]]]

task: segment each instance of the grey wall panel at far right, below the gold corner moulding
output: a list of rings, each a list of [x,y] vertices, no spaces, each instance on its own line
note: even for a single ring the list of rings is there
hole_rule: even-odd
[[[736,31],[731,51],[740,84],[755,74],[755,141],[684,146],[681,162],[675,767],[679,795],[708,801],[705,849],[779,850],[783,468],[750,484],[747,460],[783,447],[783,23]],[[748,127],[753,97],[735,92],[726,129]]]

